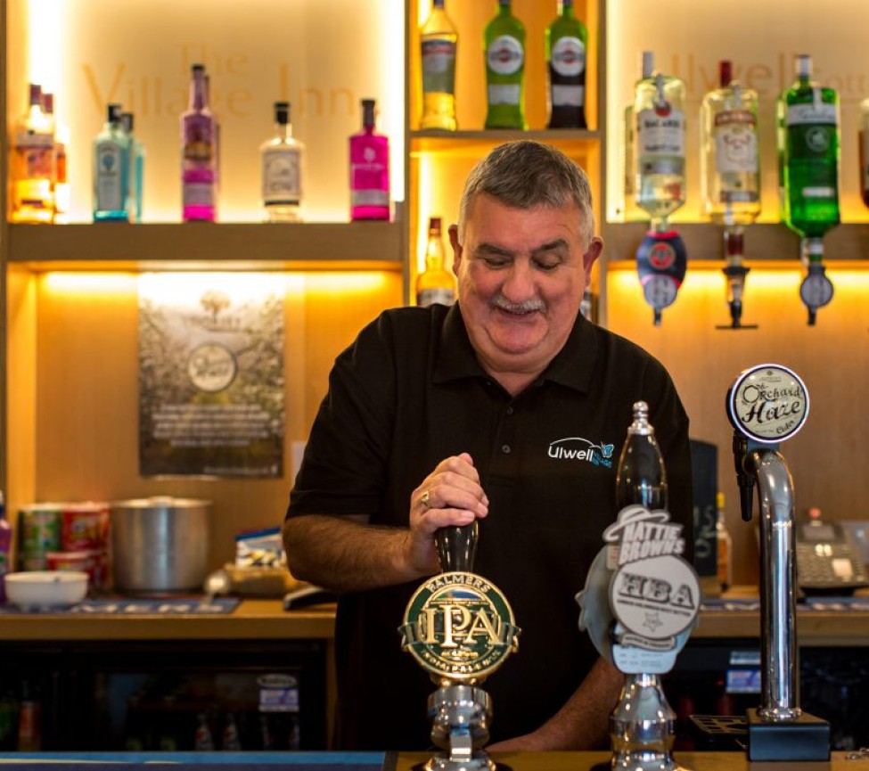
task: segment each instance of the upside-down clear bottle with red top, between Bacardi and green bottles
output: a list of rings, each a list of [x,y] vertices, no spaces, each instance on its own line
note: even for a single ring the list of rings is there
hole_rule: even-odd
[[[758,93],[718,62],[718,88],[701,104],[703,208],[718,225],[750,225],[760,213]]]

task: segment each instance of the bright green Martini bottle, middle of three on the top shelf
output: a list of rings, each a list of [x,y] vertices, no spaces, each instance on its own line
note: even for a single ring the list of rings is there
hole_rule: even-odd
[[[526,129],[525,26],[512,15],[511,0],[498,0],[498,12],[486,25],[487,128]]]

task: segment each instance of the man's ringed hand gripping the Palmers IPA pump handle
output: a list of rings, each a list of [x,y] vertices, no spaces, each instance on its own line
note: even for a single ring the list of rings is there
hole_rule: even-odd
[[[411,570],[430,576],[440,570],[435,532],[447,525],[468,525],[488,514],[488,497],[471,455],[445,458],[410,496],[406,560]]]

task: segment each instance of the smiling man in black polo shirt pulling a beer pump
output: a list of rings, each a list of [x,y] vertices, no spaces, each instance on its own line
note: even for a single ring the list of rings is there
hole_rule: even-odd
[[[433,685],[398,626],[439,572],[435,531],[480,520],[474,572],[521,627],[483,687],[488,750],[601,746],[622,676],[574,599],[616,515],[619,451],[650,406],[673,521],[691,540],[688,418],[668,373],[580,315],[594,260],[586,174],[518,141],[471,171],[449,230],[452,308],[381,314],[337,358],[284,523],[296,578],[340,593],[335,744],[424,750]]]

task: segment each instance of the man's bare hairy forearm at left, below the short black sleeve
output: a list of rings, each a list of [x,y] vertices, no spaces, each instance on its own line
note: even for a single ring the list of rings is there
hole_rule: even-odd
[[[295,578],[334,592],[359,592],[422,578],[406,560],[406,529],[311,514],[283,524]]]

